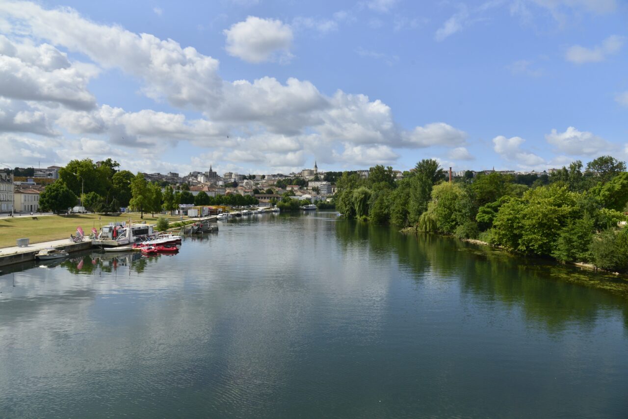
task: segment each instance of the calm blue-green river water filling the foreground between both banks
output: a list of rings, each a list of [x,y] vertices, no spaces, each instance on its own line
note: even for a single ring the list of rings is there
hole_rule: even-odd
[[[628,298],[575,269],[325,212],[36,265],[2,418],[628,417]]]

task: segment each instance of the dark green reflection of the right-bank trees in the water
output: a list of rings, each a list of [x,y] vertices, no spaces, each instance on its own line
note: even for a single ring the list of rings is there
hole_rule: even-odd
[[[400,234],[395,227],[351,220],[342,220],[336,226],[344,249],[359,243],[369,256],[376,257],[392,249],[399,264],[418,274],[417,281],[429,271],[441,278],[453,276],[460,281],[464,295],[520,306],[526,318],[551,332],[566,329],[570,322],[593,329],[606,310],[623,313],[628,332],[628,281],[623,279],[543,259],[521,258],[435,234]],[[592,288],[600,281],[613,293]]]

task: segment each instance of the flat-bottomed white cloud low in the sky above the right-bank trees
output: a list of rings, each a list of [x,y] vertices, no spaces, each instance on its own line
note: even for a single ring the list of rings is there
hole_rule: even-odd
[[[578,131],[571,126],[564,133],[552,129],[551,133],[546,134],[545,139],[558,151],[571,156],[595,156],[617,148],[604,138],[587,131]]]

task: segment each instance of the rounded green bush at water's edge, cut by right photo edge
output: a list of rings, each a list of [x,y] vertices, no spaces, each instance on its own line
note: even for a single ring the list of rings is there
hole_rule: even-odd
[[[591,242],[590,251],[593,264],[598,268],[613,271],[628,269],[628,229],[617,232],[607,229],[598,234]]]

